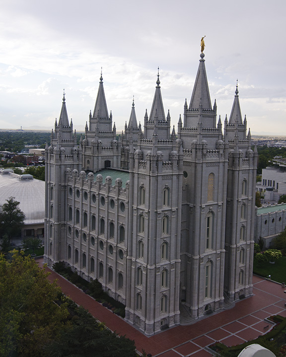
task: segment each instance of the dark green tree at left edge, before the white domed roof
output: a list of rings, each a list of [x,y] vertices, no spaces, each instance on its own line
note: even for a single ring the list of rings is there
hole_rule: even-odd
[[[20,202],[15,201],[15,197],[9,197],[6,202],[0,206],[0,237],[6,234],[10,239],[19,234],[25,214],[18,207]]]

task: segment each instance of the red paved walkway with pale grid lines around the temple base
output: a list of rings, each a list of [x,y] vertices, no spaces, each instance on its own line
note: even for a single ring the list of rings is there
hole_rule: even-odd
[[[38,260],[42,265],[43,260]],[[281,285],[253,276],[253,297],[241,300],[230,310],[223,310],[193,325],[177,326],[152,337],[146,337],[121,317],[113,314],[92,297],[84,294],[53,270],[49,279],[58,279],[58,285],[67,296],[87,309],[112,331],[135,341],[136,348],[152,357],[209,357],[205,347],[220,341],[234,346],[253,340],[271,329],[264,319],[273,314],[286,317],[286,295]]]

